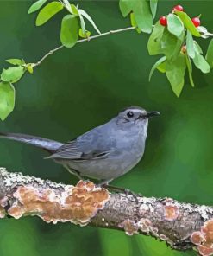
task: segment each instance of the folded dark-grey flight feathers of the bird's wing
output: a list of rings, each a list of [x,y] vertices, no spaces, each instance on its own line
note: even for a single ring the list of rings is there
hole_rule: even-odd
[[[56,150],[53,155],[47,158],[54,159],[69,159],[69,160],[87,160],[87,159],[100,159],[106,157],[110,153],[109,150],[95,150],[91,149],[90,151],[84,152],[78,147],[77,139],[63,144],[58,150]]]

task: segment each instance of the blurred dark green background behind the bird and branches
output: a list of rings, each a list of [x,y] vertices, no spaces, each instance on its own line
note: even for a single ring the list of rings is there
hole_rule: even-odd
[[[65,12],[35,28],[27,15],[32,1],[0,1],[1,68],[4,60],[38,61],[60,45],[60,20]],[[181,3],[191,16],[213,31],[212,1],[160,1],[157,18]],[[129,26],[117,1],[81,1],[102,32]],[[145,156],[133,171],[113,184],[147,196],[212,205],[213,76],[194,74],[180,99],[163,74],[148,73],[158,57],[147,54],[148,35],[135,31],[110,35],[62,49],[34,74],[16,84],[16,109],[1,131],[22,132],[67,141],[101,125],[125,106],[161,112],[149,125]],[[202,40],[204,48],[207,42]],[[66,170],[43,160],[46,153],[28,145],[0,141],[0,166],[55,182],[75,183]],[[144,236],[70,223],[47,224],[36,217],[0,221],[0,255],[196,255],[180,253]]]

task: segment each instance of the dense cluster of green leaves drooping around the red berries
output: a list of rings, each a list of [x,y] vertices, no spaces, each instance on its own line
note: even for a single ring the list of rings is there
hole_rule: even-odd
[[[149,80],[154,70],[159,70],[166,74],[172,91],[179,97],[185,85],[186,70],[188,70],[191,86],[195,86],[192,77],[193,64],[204,74],[210,72],[213,63],[213,41],[210,41],[204,57],[203,50],[194,37],[207,38],[208,36],[202,33],[205,28],[196,28],[191,18],[183,11],[174,11],[166,18],[167,26],[156,22],[147,43],[150,55],[163,54],[153,65]]]

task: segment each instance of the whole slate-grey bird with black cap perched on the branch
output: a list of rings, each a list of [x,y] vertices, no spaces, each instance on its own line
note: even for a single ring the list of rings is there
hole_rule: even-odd
[[[72,175],[109,184],[140,162],[145,150],[148,119],[160,112],[148,112],[140,106],[129,106],[116,117],[65,144],[20,133],[0,132],[8,138],[46,150],[47,159],[62,164]]]

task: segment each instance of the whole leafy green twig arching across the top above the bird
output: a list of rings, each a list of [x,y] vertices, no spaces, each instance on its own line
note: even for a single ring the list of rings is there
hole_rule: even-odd
[[[195,38],[207,39],[213,36],[202,26],[196,28],[184,11],[172,10],[172,13],[166,16],[167,26],[162,26],[160,22],[153,25],[153,19],[156,16],[158,0],[120,0],[119,7],[122,16],[129,16],[131,26],[138,33],[144,32],[151,34],[147,42],[148,53],[150,55],[160,55],[160,59],[153,65],[149,80],[153,72],[157,69],[166,74],[172,91],[180,96],[185,85],[185,73],[188,71],[191,86],[195,86],[192,72],[193,67],[197,67],[204,74],[209,73],[213,67],[213,40],[210,41],[207,53],[204,52]],[[85,10],[79,9],[78,5],[70,3],[68,0],[38,0],[31,5],[28,14],[38,12],[35,20],[36,26],[41,26],[57,15],[61,10],[66,10],[66,15],[62,18],[60,27],[61,47],[72,48],[79,38],[90,40],[91,32],[86,29],[85,20],[90,22],[98,35],[101,34],[96,23]],[[127,29],[118,29],[116,31],[125,31]],[[85,40],[81,40],[85,41]],[[61,48],[59,47],[59,48]],[[47,58],[49,54],[59,48],[53,49],[47,53],[41,61]],[[26,72],[33,74],[37,63],[26,63],[21,59],[9,59],[7,62],[14,67],[3,69],[0,80],[0,118],[4,120],[15,106],[15,88],[14,83],[22,78]]]

